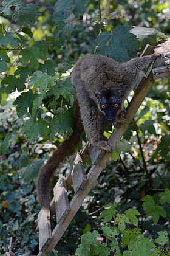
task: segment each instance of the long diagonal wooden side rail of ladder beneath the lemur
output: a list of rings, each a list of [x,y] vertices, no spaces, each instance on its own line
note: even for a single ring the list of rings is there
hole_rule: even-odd
[[[131,123],[135,113],[137,112],[144,98],[148,94],[148,91],[151,89],[153,81],[154,80],[152,80],[152,73],[151,73],[149,74],[149,78],[141,87],[140,92],[138,92],[138,94],[135,94],[131,102],[129,103],[129,106],[127,107],[127,122],[118,123],[114,132],[109,138],[109,144],[112,145],[113,150],[115,150],[115,148],[117,147],[117,144],[118,142],[120,142],[120,139],[123,136],[124,132],[126,131],[127,126],[129,125],[129,123]],[[73,217],[77,213],[78,209],[80,208],[87,194],[90,192],[90,189],[95,185],[95,182],[97,181],[98,176],[100,175],[101,171],[103,170],[104,166],[109,160],[110,153],[106,153],[106,151],[104,150],[101,150],[101,151],[103,152],[103,157],[99,156],[100,161],[98,162],[98,160],[96,160],[98,164],[92,165],[92,167],[90,168],[90,171],[87,175],[87,183],[84,189],[81,191],[79,195],[75,195],[72,201],[70,202],[70,211],[67,215],[66,220],[64,221],[63,224],[56,225],[55,229],[53,229],[52,241],[47,247],[46,252],[51,252],[52,249],[58,243],[58,241],[60,241],[60,238],[64,234],[64,231],[69,226],[70,222],[72,221]]]

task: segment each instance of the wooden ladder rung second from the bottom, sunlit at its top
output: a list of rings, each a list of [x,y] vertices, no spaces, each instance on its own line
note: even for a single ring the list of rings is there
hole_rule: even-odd
[[[62,176],[56,183],[53,193],[55,200],[56,222],[58,224],[62,224],[70,210],[64,176]]]

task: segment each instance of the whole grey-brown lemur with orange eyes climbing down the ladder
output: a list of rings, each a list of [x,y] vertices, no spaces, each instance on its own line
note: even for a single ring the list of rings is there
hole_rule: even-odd
[[[109,122],[126,122],[124,100],[137,85],[142,69],[157,56],[155,53],[118,63],[106,56],[89,55],[73,67],[71,77],[76,91],[73,134],[39,171],[37,190],[42,208],[49,209],[50,181],[61,163],[77,150],[83,128],[92,145],[112,151],[103,136],[104,130]]]

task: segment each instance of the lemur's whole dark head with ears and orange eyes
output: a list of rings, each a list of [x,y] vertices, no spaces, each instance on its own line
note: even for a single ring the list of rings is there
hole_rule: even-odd
[[[106,116],[107,121],[114,122],[117,114],[123,109],[124,92],[121,89],[112,88],[95,94],[98,108]]]

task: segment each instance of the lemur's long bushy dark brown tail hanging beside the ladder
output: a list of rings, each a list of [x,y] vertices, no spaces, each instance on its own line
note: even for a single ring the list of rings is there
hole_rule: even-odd
[[[82,132],[83,125],[81,123],[80,109],[78,107],[78,101],[75,99],[74,127],[72,136],[61,143],[53,155],[48,159],[46,164],[42,165],[39,170],[37,192],[38,202],[42,208],[49,209],[51,179],[53,178],[55,170],[77,150],[77,145]]]

